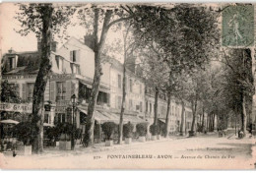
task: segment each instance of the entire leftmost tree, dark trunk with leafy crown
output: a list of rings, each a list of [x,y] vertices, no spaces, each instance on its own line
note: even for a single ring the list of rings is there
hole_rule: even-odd
[[[42,152],[43,149],[43,104],[44,90],[51,70],[50,52],[53,30],[60,32],[61,27],[68,25],[69,16],[74,12],[71,7],[52,4],[19,4],[20,11],[16,19],[21,23],[22,35],[34,32],[41,39],[40,67],[36,76],[32,94],[32,151]]]

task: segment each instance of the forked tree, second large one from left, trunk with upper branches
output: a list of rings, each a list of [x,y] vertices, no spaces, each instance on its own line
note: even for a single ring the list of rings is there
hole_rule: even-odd
[[[94,111],[96,106],[96,98],[98,94],[98,87],[100,84],[100,77],[102,75],[101,63],[102,63],[102,48],[105,43],[106,35],[108,30],[122,21],[129,20],[131,17],[125,16],[123,10],[120,8],[109,8],[102,7],[99,5],[93,5],[89,8],[88,6],[82,6],[78,11],[79,18],[82,20],[82,24],[86,28],[93,26],[93,50],[95,51],[95,76],[93,82],[93,88],[89,98],[88,105],[88,117],[86,119],[86,133],[84,142],[85,145],[94,145],[94,127],[95,127],[95,117]],[[89,18],[93,19],[92,24],[88,23]],[[102,23],[101,23],[102,22]],[[101,26],[101,28],[100,28]],[[101,30],[100,36],[99,32]]]

